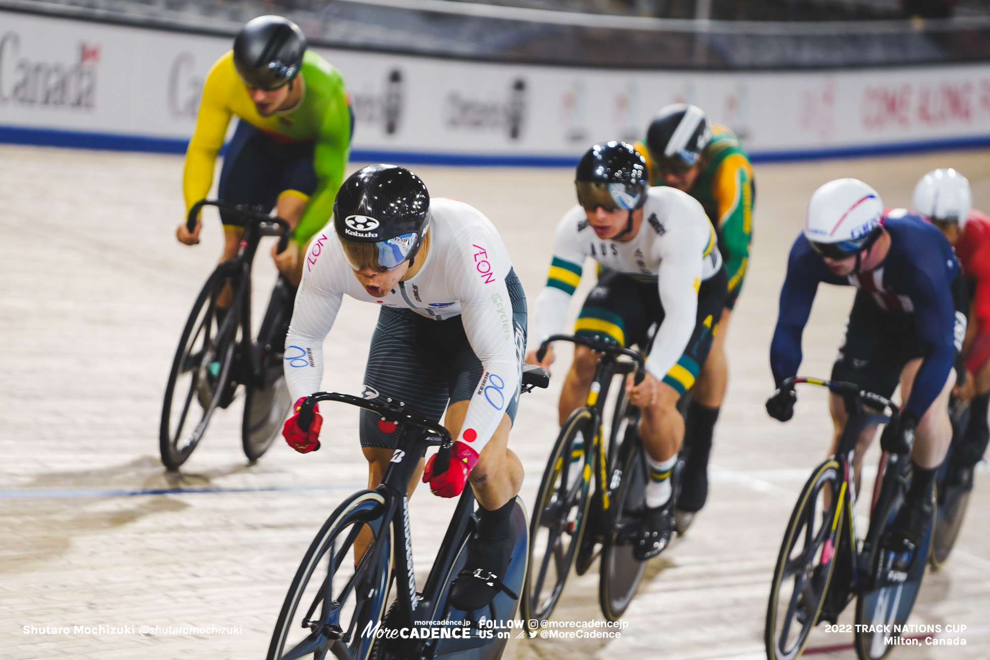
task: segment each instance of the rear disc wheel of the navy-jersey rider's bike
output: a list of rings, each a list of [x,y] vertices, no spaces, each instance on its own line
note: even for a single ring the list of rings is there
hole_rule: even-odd
[[[890,468],[888,468],[890,469]],[[882,538],[884,530],[894,521],[904,502],[900,493],[894,497],[886,507],[886,511],[879,512],[883,516],[884,525],[879,530],[876,537]],[[874,515],[878,512],[874,511]],[[933,526],[935,514],[932,516]],[[877,579],[879,567],[882,562],[882,546],[878,542],[873,543],[869,553],[869,566],[872,581],[876,584],[868,586],[856,599],[856,628],[853,636],[856,644],[856,655],[860,660],[882,660],[890,655],[891,651],[897,648],[896,639],[898,635],[889,626],[903,625],[907,622],[911,610],[915,607],[915,600],[918,592],[921,591],[922,578],[925,576],[925,565],[928,560],[928,553],[932,546],[933,527],[929,527],[925,540],[918,548],[918,557],[912,562],[908,570],[907,578],[897,584],[885,584],[883,580]],[[895,643],[887,643],[887,640]]]

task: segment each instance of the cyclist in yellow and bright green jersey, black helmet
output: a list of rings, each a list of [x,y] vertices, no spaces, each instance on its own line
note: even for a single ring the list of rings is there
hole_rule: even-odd
[[[186,151],[182,187],[186,213],[206,197],[227,127],[240,118],[227,145],[217,191],[231,204],[275,208],[294,228],[294,240],[272,256],[293,286],[299,284],[308,241],[330,218],[344,180],[352,121],[340,72],[306,49],[299,28],[279,16],[247,22],[234,49],[210,69],[196,131]],[[221,211],[223,259],[237,254],[244,221]],[[188,245],[199,242],[183,222],[176,230]],[[223,301],[222,301],[223,302]]]

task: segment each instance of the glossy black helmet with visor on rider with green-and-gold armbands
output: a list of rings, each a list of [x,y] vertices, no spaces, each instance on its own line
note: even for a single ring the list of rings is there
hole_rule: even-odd
[[[626,142],[595,144],[578,161],[574,185],[588,211],[634,211],[646,202],[646,161]]]

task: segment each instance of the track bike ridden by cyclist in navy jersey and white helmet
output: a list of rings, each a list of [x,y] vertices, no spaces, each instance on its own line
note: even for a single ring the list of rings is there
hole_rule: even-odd
[[[933,533],[930,527],[907,571],[895,570],[893,553],[884,551],[880,541],[903,505],[911,480],[910,456],[881,454],[869,526],[861,536],[854,516],[852,452],[869,424],[887,424],[884,433],[893,432],[899,408],[851,383],[788,378],[781,389],[798,383],[827,387],[840,395],[848,419],[839,450],[812,472],[787,523],[766,612],[766,657],[794,660],[804,651],[812,627],[823,620],[835,623],[855,598],[856,655],[882,660],[897,647],[894,626],[903,625],[914,607]]]

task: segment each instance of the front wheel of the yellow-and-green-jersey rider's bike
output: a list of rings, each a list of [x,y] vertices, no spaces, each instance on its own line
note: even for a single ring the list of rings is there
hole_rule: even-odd
[[[178,469],[202,439],[230,377],[239,305],[235,299],[224,316],[230,323],[221,324],[217,297],[234,272],[234,264],[223,263],[207,279],[172,360],[158,427],[161,462],[169,470]]]

